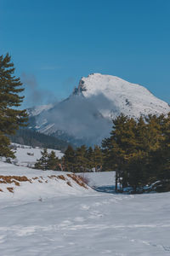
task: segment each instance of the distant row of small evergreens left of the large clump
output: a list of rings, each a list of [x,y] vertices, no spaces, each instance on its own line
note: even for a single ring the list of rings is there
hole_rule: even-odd
[[[69,145],[60,160],[54,151],[48,154],[47,148],[44,148],[35,168],[64,172],[100,172],[103,168],[103,157],[101,148],[97,145],[94,148],[82,145],[76,149]]]

